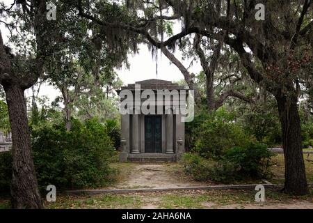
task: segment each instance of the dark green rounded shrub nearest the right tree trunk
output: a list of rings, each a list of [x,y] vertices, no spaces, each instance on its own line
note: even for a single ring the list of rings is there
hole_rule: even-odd
[[[250,143],[244,147],[233,147],[225,153],[225,160],[239,165],[239,173],[251,178],[266,178],[271,167],[271,157],[265,144]]]

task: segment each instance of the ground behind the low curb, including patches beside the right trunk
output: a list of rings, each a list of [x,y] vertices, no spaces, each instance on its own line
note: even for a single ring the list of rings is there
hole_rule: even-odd
[[[313,183],[313,154],[303,155],[307,182]],[[271,183],[284,183],[284,157],[277,154],[272,158],[275,163],[272,167],[273,178]],[[193,187],[206,185],[221,185],[211,181],[199,182],[186,176],[182,166],[178,163],[118,163],[111,164],[120,174],[116,176],[116,183],[107,189],[135,189],[135,188],[168,188],[168,187]],[[238,184],[264,183],[262,180],[245,180]],[[236,184],[236,183],[234,183]]]

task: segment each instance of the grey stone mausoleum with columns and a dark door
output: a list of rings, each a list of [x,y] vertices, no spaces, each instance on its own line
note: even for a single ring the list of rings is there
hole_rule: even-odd
[[[186,108],[188,90],[169,81],[147,79],[123,86],[118,94],[120,109],[127,110],[127,114],[121,112],[120,162],[179,160],[184,153],[185,126],[184,114],[177,110]],[[147,105],[147,99],[155,103]],[[143,107],[150,110],[143,112]]]

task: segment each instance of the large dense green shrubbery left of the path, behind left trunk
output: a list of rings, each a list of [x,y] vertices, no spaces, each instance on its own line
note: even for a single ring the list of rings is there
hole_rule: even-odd
[[[84,125],[73,120],[69,132],[64,123],[33,127],[31,145],[40,190],[50,184],[58,190],[104,186],[113,171],[109,167],[114,153],[111,139],[104,125],[95,119]],[[5,160],[0,164],[1,188],[9,187],[10,159],[10,154],[0,154],[0,160]]]

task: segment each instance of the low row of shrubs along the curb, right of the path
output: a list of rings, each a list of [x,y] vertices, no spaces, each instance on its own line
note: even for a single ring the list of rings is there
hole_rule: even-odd
[[[232,183],[247,178],[259,179],[271,176],[271,157],[273,153],[264,144],[250,143],[245,147],[227,150],[220,160],[211,160],[197,153],[185,153],[182,164],[187,175],[195,180],[213,180]]]

